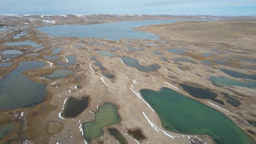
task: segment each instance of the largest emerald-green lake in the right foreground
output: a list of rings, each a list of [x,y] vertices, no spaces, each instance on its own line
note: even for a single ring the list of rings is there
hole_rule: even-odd
[[[168,131],[210,135],[216,144],[255,144],[229,117],[177,91],[168,88],[159,91],[143,89],[140,94]]]

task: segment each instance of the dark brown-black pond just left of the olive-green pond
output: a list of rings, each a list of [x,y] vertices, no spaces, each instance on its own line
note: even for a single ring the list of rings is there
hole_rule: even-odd
[[[64,107],[63,115],[64,117],[76,117],[85,108],[88,107],[89,97],[82,97],[82,99],[76,99],[70,97]]]

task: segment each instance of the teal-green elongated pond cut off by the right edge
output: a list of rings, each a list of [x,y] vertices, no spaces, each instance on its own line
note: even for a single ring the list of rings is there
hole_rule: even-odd
[[[218,83],[224,86],[238,86],[238,87],[256,89],[256,81],[250,81],[250,80],[237,81],[237,80],[232,80],[226,77],[217,77],[217,76],[211,76],[210,81],[212,83]]]

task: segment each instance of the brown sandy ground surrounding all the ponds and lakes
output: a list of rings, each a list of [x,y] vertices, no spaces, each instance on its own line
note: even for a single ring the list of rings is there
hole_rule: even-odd
[[[32,16],[27,16],[31,18]],[[63,17],[55,17],[55,24],[69,24],[62,20]],[[51,18],[50,17],[50,18]],[[74,17],[74,16],[73,16]],[[101,19],[100,16],[94,16],[95,19]],[[19,28],[13,28],[8,32],[0,34],[0,50],[16,49],[20,50],[21,46],[5,46],[5,42],[14,42],[22,40],[31,40],[37,44],[43,45],[45,48],[38,52],[32,51],[31,47],[26,47],[31,51],[26,54],[39,53],[39,56],[22,55],[12,60],[14,63],[11,67],[0,68],[0,77],[4,77],[11,72],[18,63],[30,60],[43,60],[47,66],[41,69],[35,69],[24,72],[31,80],[47,83],[46,90],[49,96],[46,101],[30,108],[18,108],[8,111],[0,111],[0,125],[7,122],[15,122],[16,129],[0,140],[0,143],[6,144],[82,144],[84,143],[81,123],[93,120],[94,114],[92,110],[97,110],[104,101],[110,101],[119,106],[119,115],[121,122],[117,125],[103,127],[104,135],[93,140],[93,144],[118,144],[113,136],[110,136],[107,128],[117,128],[121,134],[127,139],[128,144],[190,144],[190,137],[195,135],[181,135],[165,131],[162,128],[159,117],[141,98],[138,91],[141,89],[159,90],[162,87],[168,87],[177,90],[184,95],[195,99],[184,91],[178,83],[189,83],[191,85],[199,85],[218,94],[217,99],[225,102],[225,98],[220,92],[226,92],[229,95],[236,96],[240,100],[241,105],[233,107],[225,102],[225,105],[209,99],[197,99],[202,103],[216,108],[234,120],[245,132],[248,130],[256,133],[256,129],[248,124],[246,119],[256,121],[256,90],[242,87],[216,87],[211,84],[209,78],[212,75],[225,76],[231,78],[225,73],[219,71],[220,68],[235,70],[247,74],[256,74],[255,69],[241,68],[242,65],[256,68],[255,64],[241,62],[237,58],[255,58],[255,37],[256,23],[253,20],[229,20],[218,22],[180,22],[174,24],[156,25],[148,27],[139,27],[137,30],[143,30],[159,35],[160,40],[167,43],[161,43],[160,40],[119,40],[108,41],[103,39],[78,38],[78,37],[49,37],[46,34],[35,30],[35,26],[52,25],[44,23],[42,20],[32,21],[27,27],[22,22],[24,18],[19,20],[16,17],[4,16],[6,25],[15,21]],[[8,20],[9,18],[9,20]],[[32,18],[45,18],[41,16],[33,16]],[[47,18],[47,17],[46,17]],[[56,18],[60,18],[57,19]],[[79,18],[79,17],[78,17]],[[102,17],[103,18],[103,17]],[[104,17],[107,18],[107,17]],[[116,18],[116,17],[114,17]],[[15,20],[16,19],[16,20]],[[77,20],[76,18],[74,18]],[[93,18],[92,18],[93,19]],[[95,20],[94,19],[94,20]],[[116,20],[124,20],[125,18],[116,18]],[[137,20],[138,18],[126,18],[128,20]],[[143,18],[141,18],[143,19]],[[145,18],[146,19],[146,18]],[[148,18],[150,19],[150,18]],[[85,20],[76,21],[83,23]],[[98,21],[98,20],[95,20]],[[113,22],[113,21],[102,21]],[[93,20],[91,20],[93,23]],[[96,22],[94,22],[96,23]],[[84,23],[83,23],[84,24]],[[21,27],[24,26],[24,27]],[[27,36],[23,36],[19,40],[11,39],[19,30],[27,31]],[[212,34],[212,35],[209,35]],[[233,35],[234,34],[234,35]],[[41,35],[37,37],[37,35]],[[231,36],[232,35],[232,36]],[[227,38],[229,37],[229,38]],[[65,42],[63,44],[61,42]],[[90,44],[89,41],[98,42],[97,45]],[[157,44],[150,46],[149,43]],[[84,48],[76,48],[74,45],[83,45]],[[130,52],[126,46],[145,47],[144,51]],[[42,76],[53,72],[58,67],[57,61],[53,61],[53,65],[47,62],[43,55],[50,55],[54,47],[63,47],[63,50],[57,55],[65,61],[64,56],[76,55],[76,63],[68,69],[75,72],[74,76],[64,79],[42,79]],[[101,56],[96,50],[109,50],[110,47],[117,47],[113,57]],[[180,48],[186,54],[173,54],[166,52],[166,48]],[[155,55],[154,51],[164,53],[163,55]],[[212,53],[218,51],[219,54],[213,54],[211,57],[203,57],[202,53]],[[129,67],[122,63],[119,56],[129,56],[136,58],[141,65],[149,65],[156,63],[161,68],[156,72],[139,72],[136,68]],[[91,56],[95,56],[107,70],[115,74],[114,79],[105,78],[101,74],[101,70],[93,65],[90,60]],[[160,57],[166,57],[166,61],[162,61]],[[174,62],[174,58],[186,57],[194,63]],[[228,59],[229,58],[229,59]],[[211,66],[203,65],[202,60],[213,61],[214,59],[222,60],[228,65],[219,65],[212,63]],[[81,79],[76,79],[77,76]],[[168,76],[173,76],[170,78]],[[236,78],[232,78],[236,79]],[[58,85],[56,85],[56,83]],[[76,89],[79,86],[79,89]],[[63,118],[59,114],[64,107],[65,99],[70,96],[80,98],[81,96],[90,96],[89,107],[80,115],[74,118]],[[22,114],[22,115],[21,115]],[[57,122],[62,127],[56,130],[55,134],[50,134],[48,126]],[[128,129],[139,128],[142,130],[146,139],[137,142],[135,139],[127,135]],[[248,133],[253,138],[256,135]],[[209,137],[199,136],[200,139],[211,144]]]

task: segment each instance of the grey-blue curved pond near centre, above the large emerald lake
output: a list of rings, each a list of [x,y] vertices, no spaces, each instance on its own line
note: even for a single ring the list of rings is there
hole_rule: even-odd
[[[122,59],[123,63],[125,63],[128,66],[137,68],[138,71],[153,72],[157,71],[160,68],[160,66],[157,64],[150,64],[148,66],[140,65],[136,59],[128,56],[122,56],[120,58]]]

